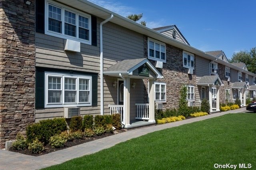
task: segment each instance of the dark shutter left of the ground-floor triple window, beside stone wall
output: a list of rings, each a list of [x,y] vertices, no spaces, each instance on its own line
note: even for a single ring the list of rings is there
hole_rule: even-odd
[[[36,70],[36,109],[44,108],[44,71]]]

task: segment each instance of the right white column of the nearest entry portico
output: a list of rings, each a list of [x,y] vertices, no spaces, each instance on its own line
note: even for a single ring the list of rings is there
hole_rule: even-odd
[[[155,92],[154,80],[149,80],[149,120],[148,120],[148,122],[152,122],[152,123],[156,123],[154,92]]]

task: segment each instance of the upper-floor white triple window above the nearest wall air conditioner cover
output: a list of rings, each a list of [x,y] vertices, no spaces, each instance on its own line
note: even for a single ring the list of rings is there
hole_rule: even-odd
[[[45,33],[91,44],[91,16],[52,0],[45,4]]]

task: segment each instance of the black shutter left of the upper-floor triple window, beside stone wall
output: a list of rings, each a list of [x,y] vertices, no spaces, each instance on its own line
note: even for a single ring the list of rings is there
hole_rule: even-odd
[[[36,0],[36,32],[44,33],[44,0]]]

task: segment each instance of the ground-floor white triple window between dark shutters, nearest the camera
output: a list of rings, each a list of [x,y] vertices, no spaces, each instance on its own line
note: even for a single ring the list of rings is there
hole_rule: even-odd
[[[92,77],[45,72],[45,107],[91,106]]]

